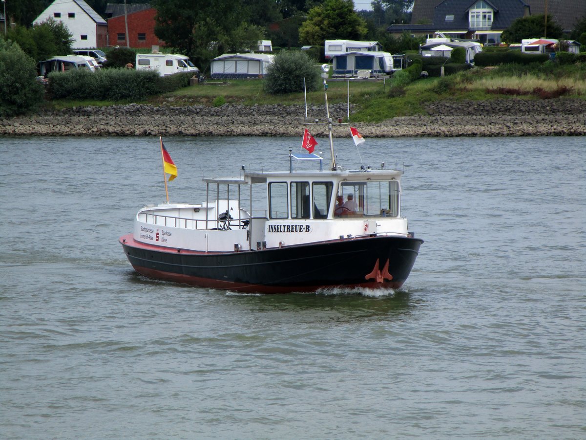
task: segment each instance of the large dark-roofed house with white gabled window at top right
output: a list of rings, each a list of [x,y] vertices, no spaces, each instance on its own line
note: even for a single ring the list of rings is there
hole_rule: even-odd
[[[548,3],[548,6],[546,4]],[[586,15],[584,0],[415,0],[411,24],[391,25],[390,33],[431,38],[435,32],[459,39],[499,45],[500,34],[517,18],[547,13],[570,32]]]

